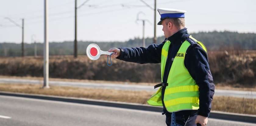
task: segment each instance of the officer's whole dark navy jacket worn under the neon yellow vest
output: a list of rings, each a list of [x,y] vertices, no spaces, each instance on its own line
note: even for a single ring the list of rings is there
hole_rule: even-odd
[[[184,28],[171,37],[167,38],[171,44],[169,46],[168,58],[165,65],[165,72],[163,76],[163,82],[167,82],[168,74],[172,66],[172,58],[175,57],[181,44],[189,37],[187,29]],[[167,40],[165,39],[165,41]],[[145,63],[161,63],[162,44],[151,44],[148,48],[134,47],[126,48],[120,47],[120,56],[117,59],[129,62],[135,62],[140,64]],[[185,67],[190,73],[191,77],[196,81],[199,86],[199,109],[198,115],[209,117],[211,110],[211,102],[213,99],[215,86],[213,84],[212,74],[210,72],[207,53],[198,44],[191,45],[186,52]],[[165,87],[162,88],[162,101],[164,97]],[[164,103],[164,102],[162,102]],[[163,104],[163,111],[165,114],[170,114],[165,109]]]

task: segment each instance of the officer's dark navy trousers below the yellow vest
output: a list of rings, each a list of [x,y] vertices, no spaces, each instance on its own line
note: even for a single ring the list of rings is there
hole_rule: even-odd
[[[173,112],[165,115],[167,126],[201,126],[195,124],[197,114]]]

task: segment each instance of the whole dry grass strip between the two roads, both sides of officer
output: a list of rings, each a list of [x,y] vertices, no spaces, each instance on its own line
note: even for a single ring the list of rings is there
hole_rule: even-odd
[[[148,98],[154,93],[147,91],[87,89],[64,86],[51,86],[50,89],[42,89],[41,85],[29,84],[0,84],[0,90],[17,93],[79,97],[141,104],[146,104]],[[215,96],[212,102],[212,110],[256,115],[256,100],[226,96]]]

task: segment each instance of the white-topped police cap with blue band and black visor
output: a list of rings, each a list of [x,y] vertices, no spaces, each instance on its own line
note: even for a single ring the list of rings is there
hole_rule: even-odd
[[[162,21],[167,18],[184,18],[185,10],[177,10],[177,9],[169,9],[169,8],[158,8],[157,11],[159,12],[161,18],[160,21],[157,23],[158,25],[162,25]]]

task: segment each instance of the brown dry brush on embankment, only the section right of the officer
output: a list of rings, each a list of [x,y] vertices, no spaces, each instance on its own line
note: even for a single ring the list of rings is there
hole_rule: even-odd
[[[215,83],[232,87],[255,88],[255,51],[210,51],[208,56]]]

